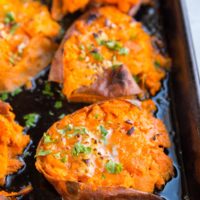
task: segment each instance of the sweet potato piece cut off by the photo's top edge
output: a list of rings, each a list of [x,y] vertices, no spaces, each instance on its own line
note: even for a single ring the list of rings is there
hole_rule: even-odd
[[[56,20],[62,19],[67,13],[73,13],[79,9],[83,9],[88,4],[97,5],[116,5],[121,11],[135,14],[142,3],[150,0],[53,0],[52,2],[52,17]]]

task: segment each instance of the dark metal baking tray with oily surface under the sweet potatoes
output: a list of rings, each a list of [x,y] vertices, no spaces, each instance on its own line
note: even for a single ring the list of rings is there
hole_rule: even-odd
[[[172,147],[168,154],[174,161],[175,177],[162,191],[155,191],[166,200],[200,199],[200,84],[192,47],[190,29],[184,1],[155,0],[154,6],[144,6],[136,19],[152,35],[166,41],[166,51],[173,59],[173,67],[163,81],[161,91],[153,97],[158,106],[155,114],[161,118],[170,133]],[[65,25],[74,21],[80,13],[64,19]],[[11,96],[8,102],[13,106],[17,121],[24,125],[23,116],[38,113],[37,126],[27,130],[32,142],[21,157],[24,167],[16,174],[7,177],[3,189],[17,191],[31,184],[33,191],[18,197],[22,200],[60,200],[54,188],[35,169],[35,149],[43,133],[58,120],[61,114],[69,114],[86,104],[69,103],[60,95],[60,86],[51,84],[53,96],[43,94],[48,69],[33,81],[32,90],[23,90]],[[62,101],[63,107],[56,109],[55,101]]]

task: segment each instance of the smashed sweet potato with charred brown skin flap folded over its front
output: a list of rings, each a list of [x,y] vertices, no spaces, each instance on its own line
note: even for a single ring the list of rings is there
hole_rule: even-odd
[[[101,7],[66,32],[49,79],[63,84],[70,101],[132,97],[141,89],[155,95],[169,65],[141,23],[115,7]]]

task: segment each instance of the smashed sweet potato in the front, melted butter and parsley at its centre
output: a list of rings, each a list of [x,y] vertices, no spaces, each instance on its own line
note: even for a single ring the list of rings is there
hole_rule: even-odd
[[[44,133],[37,170],[66,200],[160,199],[150,193],[173,176],[173,163],[164,152],[168,133],[152,109],[150,100],[118,99],[64,117]]]

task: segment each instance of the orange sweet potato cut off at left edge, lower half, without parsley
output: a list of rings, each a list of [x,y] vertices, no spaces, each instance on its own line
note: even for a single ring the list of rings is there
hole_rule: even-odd
[[[17,158],[30,141],[17,124],[9,104],[0,101],[0,185],[4,185],[7,175],[17,172],[23,163]]]

